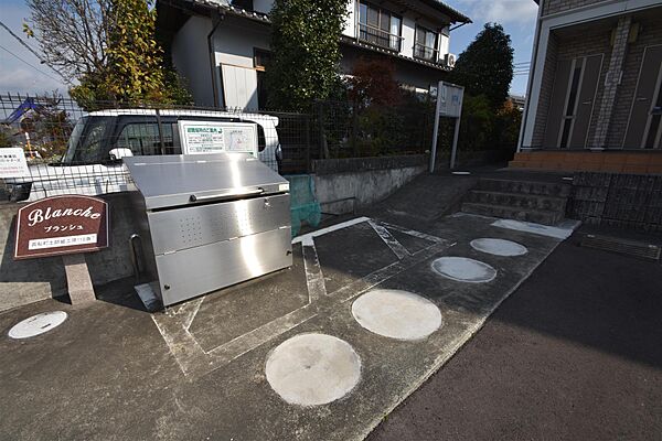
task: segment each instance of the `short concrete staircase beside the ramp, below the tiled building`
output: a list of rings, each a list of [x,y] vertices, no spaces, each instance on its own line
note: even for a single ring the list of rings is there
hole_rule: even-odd
[[[462,203],[462,212],[536,224],[565,218],[570,185],[555,182],[480,179]]]

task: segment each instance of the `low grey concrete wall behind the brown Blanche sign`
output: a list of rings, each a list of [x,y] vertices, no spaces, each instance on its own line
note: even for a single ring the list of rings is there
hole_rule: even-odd
[[[126,193],[103,196],[110,212],[110,246],[86,254],[94,284],[132,276],[128,239],[134,233],[134,218]],[[66,294],[66,277],[62,257],[13,260],[15,214],[20,204],[0,205],[0,311]]]

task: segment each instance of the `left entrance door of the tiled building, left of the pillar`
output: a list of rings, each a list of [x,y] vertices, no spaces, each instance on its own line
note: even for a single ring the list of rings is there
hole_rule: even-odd
[[[558,62],[545,129],[545,147],[586,147],[601,68],[602,54]]]

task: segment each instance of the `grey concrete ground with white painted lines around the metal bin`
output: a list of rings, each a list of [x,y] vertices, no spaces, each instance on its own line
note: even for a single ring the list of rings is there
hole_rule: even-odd
[[[164,312],[130,281],[8,311],[0,439],[363,439],[562,241],[493,222],[345,218],[296,238],[291,269]]]

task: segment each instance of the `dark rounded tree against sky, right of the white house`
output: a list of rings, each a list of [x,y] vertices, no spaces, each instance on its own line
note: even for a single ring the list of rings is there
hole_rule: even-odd
[[[501,24],[485,23],[448,77],[465,86],[466,94],[484,95],[492,109],[503,106],[513,79],[513,49]]]

